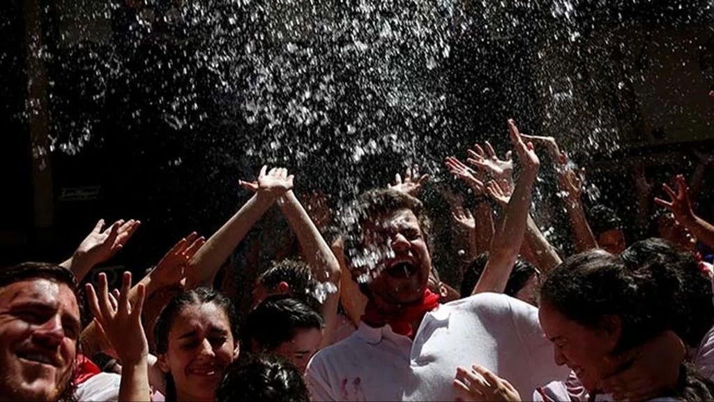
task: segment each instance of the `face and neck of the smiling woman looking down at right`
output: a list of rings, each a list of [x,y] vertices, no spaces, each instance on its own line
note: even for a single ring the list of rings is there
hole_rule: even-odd
[[[553,342],[555,363],[568,366],[588,391],[597,389],[601,379],[615,372],[605,358],[620,338],[619,320],[593,329],[570,320],[545,302],[540,305],[538,318],[543,333]]]

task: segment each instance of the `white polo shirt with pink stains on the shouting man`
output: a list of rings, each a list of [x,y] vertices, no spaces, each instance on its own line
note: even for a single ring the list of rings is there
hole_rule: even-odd
[[[361,324],[317,353],[306,381],[315,401],[453,401],[456,367],[478,363],[530,395],[563,380],[538,309],[496,293],[441,305],[422,320],[412,343],[386,325]]]

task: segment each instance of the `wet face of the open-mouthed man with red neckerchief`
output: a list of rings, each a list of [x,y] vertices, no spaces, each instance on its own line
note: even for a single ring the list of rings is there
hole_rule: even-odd
[[[364,227],[366,247],[384,250],[368,288],[381,303],[418,303],[431,272],[431,257],[419,222],[411,210],[378,217]]]

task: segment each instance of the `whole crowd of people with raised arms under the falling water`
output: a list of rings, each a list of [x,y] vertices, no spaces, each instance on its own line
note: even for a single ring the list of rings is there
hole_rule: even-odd
[[[348,213],[304,207],[293,175],[264,166],[213,235],[181,238],[119,289],[88,274],[138,220],[100,220],[62,263],[1,269],[0,400],[714,400],[714,226],[685,177],[647,196],[661,209],[655,232],[628,242],[612,209],[585,207],[580,172],[553,138],[512,120],[508,133],[504,159],[486,142],[466,163],[445,161],[469,187],[445,193],[467,256],[458,290],[432,262],[439,239],[418,168]],[[546,159],[570,256],[531,216]],[[244,284],[253,303],[241,312],[223,277],[273,206],[299,253]],[[328,238],[323,221],[336,215],[346,227]]]

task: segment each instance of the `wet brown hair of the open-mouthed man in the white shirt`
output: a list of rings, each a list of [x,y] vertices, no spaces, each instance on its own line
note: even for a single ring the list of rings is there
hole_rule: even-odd
[[[345,250],[351,268],[356,268],[353,258],[365,247],[364,225],[376,217],[391,215],[400,210],[411,210],[416,216],[422,235],[431,250],[431,220],[426,215],[422,202],[404,192],[392,189],[376,189],[360,195],[356,220],[347,228]]]

